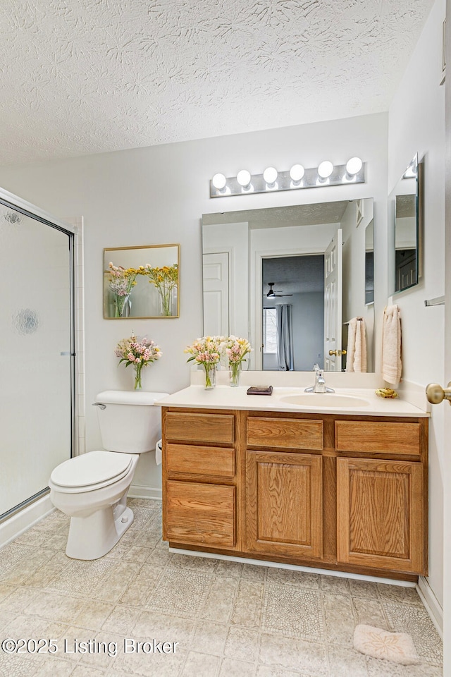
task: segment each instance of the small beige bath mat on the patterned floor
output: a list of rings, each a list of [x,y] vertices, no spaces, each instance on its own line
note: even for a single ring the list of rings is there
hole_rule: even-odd
[[[402,665],[421,662],[410,635],[388,633],[373,626],[360,625],[355,628],[354,649],[373,658],[383,658]]]

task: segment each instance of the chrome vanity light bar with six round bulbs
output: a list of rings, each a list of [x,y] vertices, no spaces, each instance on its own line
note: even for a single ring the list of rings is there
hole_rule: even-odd
[[[295,180],[297,176],[301,178]],[[268,183],[269,181],[271,183]],[[333,166],[326,160],[318,167],[311,169],[304,169],[302,165],[297,164],[289,171],[278,172],[275,168],[268,167],[261,174],[251,174],[246,169],[242,169],[237,176],[228,178],[224,174],[217,173],[210,181],[210,197],[271,193],[278,190],[321,188],[326,185],[364,182],[365,164],[360,158],[352,157],[346,164]]]

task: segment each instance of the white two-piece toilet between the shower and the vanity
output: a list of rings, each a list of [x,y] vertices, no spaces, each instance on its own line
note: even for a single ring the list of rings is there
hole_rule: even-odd
[[[107,390],[97,406],[104,449],[88,451],[58,465],[49,480],[50,499],[70,516],[66,555],[99,559],[133,522],[127,493],[141,453],[161,437],[161,409],[167,393]]]

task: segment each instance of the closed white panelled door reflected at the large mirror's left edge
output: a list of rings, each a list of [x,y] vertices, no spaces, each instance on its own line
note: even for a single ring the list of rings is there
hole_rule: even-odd
[[[204,254],[204,336],[228,336],[228,253]]]

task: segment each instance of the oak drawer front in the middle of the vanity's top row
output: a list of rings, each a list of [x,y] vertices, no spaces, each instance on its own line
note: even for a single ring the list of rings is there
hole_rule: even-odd
[[[323,449],[323,421],[249,417],[247,444],[281,449]]]

